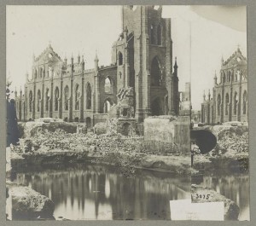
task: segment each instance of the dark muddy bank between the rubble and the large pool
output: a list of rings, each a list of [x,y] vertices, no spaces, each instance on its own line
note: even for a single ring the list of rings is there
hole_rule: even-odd
[[[188,156],[160,156],[136,153],[90,154],[51,150],[44,153],[14,154],[10,163],[12,171],[26,171],[26,168],[44,168],[51,165],[71,165],[76,163],[94,163],[114,165],[121,168],[125,176],[131,176],[136,169],[168,171],[173,175],[190,175],[190,158]]]

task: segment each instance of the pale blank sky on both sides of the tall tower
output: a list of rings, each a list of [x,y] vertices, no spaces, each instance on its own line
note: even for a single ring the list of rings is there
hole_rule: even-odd
[[[247,56],[246,7],[163,6],[172,18],[173,58],[177,56],[179,90],[191,78],[193,109],[200,109],[203,90],[212,90],[220,61],[236,51]],[[84,55],[85,67],[111,61],[111,47],[121,32],[120,6],[8,6],[7,77],[20,90],[32,73],[32,55],[51,43],[67,61]]]

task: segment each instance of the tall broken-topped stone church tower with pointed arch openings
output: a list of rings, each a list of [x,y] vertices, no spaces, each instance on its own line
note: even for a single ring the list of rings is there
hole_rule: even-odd
[[[172,73],[171,19],[161,6],[123,6],[123,32],[113,45],[117,88],[133,87],[137,121],[178,113],[178,78]]]

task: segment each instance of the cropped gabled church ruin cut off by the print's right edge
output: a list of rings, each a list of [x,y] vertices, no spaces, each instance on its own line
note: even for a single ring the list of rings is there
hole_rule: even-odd
[[[220,81],[214,77],[212,97],[204,94],[201,122],[207,125],[229,121],[248,121],[247,113],[247,58],[238,48],[227,61],[222,59]]]

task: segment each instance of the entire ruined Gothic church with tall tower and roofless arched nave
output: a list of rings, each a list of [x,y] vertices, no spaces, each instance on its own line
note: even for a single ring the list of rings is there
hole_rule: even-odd
[[[19,120],[49,117],[92,126],[105,121],[115,105],[118,117],[137,122],[151,115],[178,114],[171,19],[161,17],[161,7],[121,10],[123,31],[113,43],[110,65],[99,66],[96,55],[95,67],[84,68],[83,56],[62,60],[50,44],[33,56],[25,93],[15,93]]]

